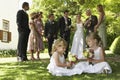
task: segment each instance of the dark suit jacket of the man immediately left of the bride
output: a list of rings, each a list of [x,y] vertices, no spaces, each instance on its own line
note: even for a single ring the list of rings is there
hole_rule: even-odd
[[[67,18],[67,24],[65,23],[64,17],[61,17],[59,19],[59,29],[60,29],[60,36],[61,37],[63,37],[63,35],[65,35],[66,32],[68,32],[68,34],[70,35],[70,26],[71,26],[71,19],[70,18]],[[69,28],[67,29],[67,27],[69,27]]]

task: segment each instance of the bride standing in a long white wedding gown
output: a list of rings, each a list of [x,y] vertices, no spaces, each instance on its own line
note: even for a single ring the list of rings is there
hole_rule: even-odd
[[[84,58],[83,56],[83,49],[84,46],[84,31],[83,31],[83,23],[81,20],[81,14],[77,14],[76,16],[76,27],[77,30],[75,31],[72,47],[71,47],[71,54],[76,55],[78,59]]]

